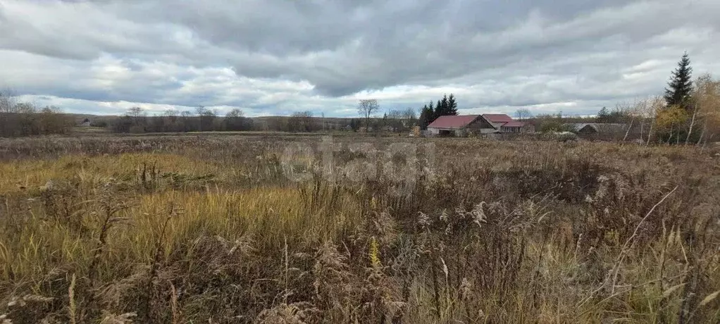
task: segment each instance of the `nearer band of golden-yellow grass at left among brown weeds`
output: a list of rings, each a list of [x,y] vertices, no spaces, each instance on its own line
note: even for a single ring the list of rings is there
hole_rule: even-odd
[[[266,248],[278,248],[287,237],[315,242],[333,240],[359,216],[359,208],[351,207],[351,199],[344,198],[341,204],[343,211],[323,206],[325,210],[312,214],[300,192],[293,188],[144,194],[131,200],[131,207],[117,215],[129,220],[112,228],[104,264],[112,269],[150,261],[159,229],[171,209],[179,213],[168,222],[163,243],[166,253],[201,236],[217,235],[230,242],[246,236]],[[58,264],[89,262],[96,248],[94,240],[42,218],[35,216],[27,222],[14,242],[0,237],[0,278],[32,279]],[[91,229],[87,234],[90,238],[97,237],[101,218],[97,212],[84,216],[84,225]],[[106,275],[117,274],[111,270]]]

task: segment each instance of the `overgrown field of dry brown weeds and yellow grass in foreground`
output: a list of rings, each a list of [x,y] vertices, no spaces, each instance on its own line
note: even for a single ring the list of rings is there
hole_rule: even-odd
[[[719,323],[717,152],[0,139],[0,323]]]

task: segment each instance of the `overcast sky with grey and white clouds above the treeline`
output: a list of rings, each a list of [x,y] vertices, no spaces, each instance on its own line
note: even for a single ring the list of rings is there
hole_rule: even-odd
[[[595,114],[720,74],[720,1],[0,0],[0,87],[66,112]]]

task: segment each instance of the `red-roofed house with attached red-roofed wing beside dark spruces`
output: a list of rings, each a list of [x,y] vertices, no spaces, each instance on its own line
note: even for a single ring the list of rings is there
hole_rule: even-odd
[[[465,136],[469,132],[534,132],[534,127],[507,114],[468,114],[440,116],[428,125],[428,132],[435,136]]]

